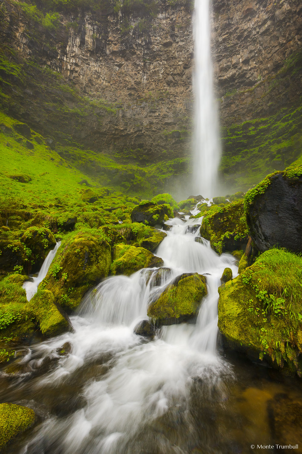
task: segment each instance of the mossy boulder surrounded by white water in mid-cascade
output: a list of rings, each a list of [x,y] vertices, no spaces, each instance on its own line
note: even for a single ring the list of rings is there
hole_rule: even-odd
[[[206,278],[197,273],[177,276],[164,291],[152,296],[147,315],[156,324],[173,325],[197,315],[206,296]]]

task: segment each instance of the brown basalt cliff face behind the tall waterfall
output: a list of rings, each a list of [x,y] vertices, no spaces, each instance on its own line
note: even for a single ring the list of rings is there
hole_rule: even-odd
[[[1,47],[10,61],[22,60],[25,73],[19,94],[3,85],[11,114],[54,141],[72,137],[99,152],[146,162],[189,156],[192,5],[159,1],[152,16],[123,11],[122,3],[98,13],[61,12],[55,31],[44,30],[21,3],[3,5]],[[286,62],[301,50],[299,0],[214,0],[212,22],[222,126],[297,104],[301,71],[289,74]],[[62,78],[49,83],[48,69]]]

